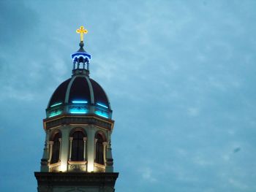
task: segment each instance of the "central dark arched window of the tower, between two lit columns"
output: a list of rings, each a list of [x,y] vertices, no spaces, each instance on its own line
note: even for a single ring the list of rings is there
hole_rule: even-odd
[[[85,135],[82,131],[75,131],[72,134],[72,152],[71,152],[71,161],[83,161],[83,151],[84,151],[84,141],[83,137]]]

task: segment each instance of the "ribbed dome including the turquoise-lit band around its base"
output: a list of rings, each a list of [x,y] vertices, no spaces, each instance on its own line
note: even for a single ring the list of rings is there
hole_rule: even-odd
[[[72,77],[59,85],[50,98],[47,117],[61,114],[96,114],[111,118],[110,102],[103,88],[89,77],[87,70],[75,70]]]

